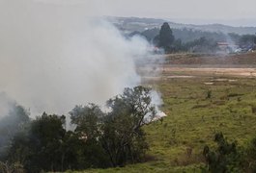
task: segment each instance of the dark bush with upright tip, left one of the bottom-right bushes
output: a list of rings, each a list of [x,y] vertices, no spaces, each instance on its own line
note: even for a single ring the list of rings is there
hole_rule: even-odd
[[[203,152],[209,171],[213,173],[242,171],[242,155],[237,149],[236,142],[229,143],[222,133],[215,134],[214,142],[217,143],[215,150],[205,146]]]

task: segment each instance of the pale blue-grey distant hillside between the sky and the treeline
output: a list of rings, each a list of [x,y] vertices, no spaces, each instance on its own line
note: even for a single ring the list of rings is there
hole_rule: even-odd
[[[232,27],[222,24],[193,25],[174,23],[172,21],[155,18],[137,18],[137,17],[106,17],[113,22],[119,29],[131,33],[134,31],[143,32],[148,29],[159,28],[163,22],[168,22],[173,29],[191,29],[213,33],[236,33],[238,35],[254,35],[256,27]]]

